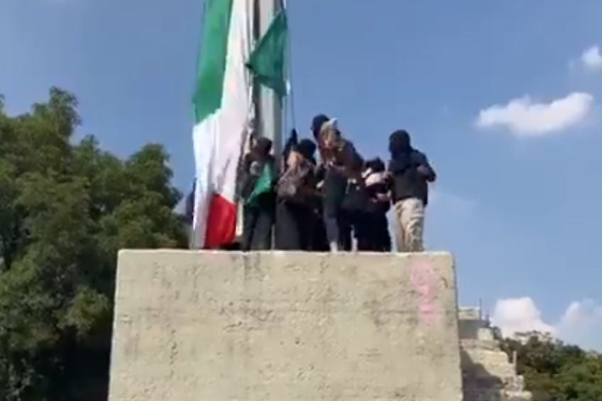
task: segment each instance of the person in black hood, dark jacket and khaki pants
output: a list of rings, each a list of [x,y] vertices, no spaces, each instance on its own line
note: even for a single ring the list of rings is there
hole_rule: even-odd
[[[424,153],[412,148],[407,131],[391,134],[389,151],[388,177],[395,206],[398,252],[422,252],[428,183],[434,182],[437,175]]]

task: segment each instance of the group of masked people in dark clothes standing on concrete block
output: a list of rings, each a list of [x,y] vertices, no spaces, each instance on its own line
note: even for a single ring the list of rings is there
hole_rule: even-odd
[[[397,248],[423,250],[428,184],[436,174],[410,135],[389,138],[388,166],[365,160],[336,119],[312,121],[313,138],[292,132],[276,165],[268,138],[252,138],[239,173],[241,249],[391,251],[387,214],[395,210]]]

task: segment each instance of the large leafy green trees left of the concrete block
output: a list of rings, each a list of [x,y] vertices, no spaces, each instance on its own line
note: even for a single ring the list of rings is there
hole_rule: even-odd
[[[0,97],[0,400],[106,400],[117,252],[186,245],[163,147],[119,160],[79,123],[57,88]]]

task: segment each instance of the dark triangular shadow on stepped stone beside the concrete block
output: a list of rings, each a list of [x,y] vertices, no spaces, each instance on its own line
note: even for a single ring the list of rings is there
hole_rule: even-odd
[[[460,350],[460,357],[464,401],[503,401],[503,380],[489,373],[481,363],[473,361],[464,349]]]

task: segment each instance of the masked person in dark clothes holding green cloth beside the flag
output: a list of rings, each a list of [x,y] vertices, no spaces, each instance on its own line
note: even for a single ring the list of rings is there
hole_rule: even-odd
[[[268,250],[272,247],[275,220],[275,160],[270,155],[272,141],[257,138],[242,165],[243,199],[242,251]]]

